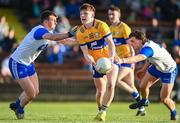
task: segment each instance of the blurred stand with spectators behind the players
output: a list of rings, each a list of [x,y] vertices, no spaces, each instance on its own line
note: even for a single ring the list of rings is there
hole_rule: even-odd
[[[0,0],[0,100],[15,99],[21,89],[13,81],[8,58],[30,29],[39,24],[43,10],[59,16],[56,32],[67,32],[80,25],[79,6],[88,2],[96,8],[96,18],[109,24],[107,9],[111,4],[121,9],[121,20],[132,29],[146,32],[147,37],[161,43],[180,67],[180,1],[179,0]],[[36,60],[40,81],[38,101],[95,101],[91,66],[78,45],[51,43]],[[136,64],[136,70],[143,63]],[[179,72],[180,73],[180,72]],[[137,87],[139,80],[135,81]],[[160,101],[158,82],[151,88],[150,99]],[[131,95],[116,88],[115,101],[130,101]],[[180,75],[172,93],[180,101]]]

